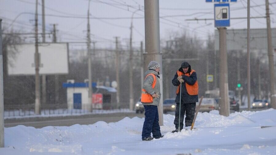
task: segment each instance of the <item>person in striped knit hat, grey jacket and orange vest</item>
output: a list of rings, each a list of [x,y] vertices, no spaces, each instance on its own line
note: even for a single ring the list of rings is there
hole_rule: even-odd
[[[151,61],[145,72],[141,102],[145,108],[145,122],[142,130],[142,140],[150,141],[153,138],[163,137],[160,132],[157,106],[160,101],[159,83],[160,64]],[[151,137],[151,133],[153,137]]]

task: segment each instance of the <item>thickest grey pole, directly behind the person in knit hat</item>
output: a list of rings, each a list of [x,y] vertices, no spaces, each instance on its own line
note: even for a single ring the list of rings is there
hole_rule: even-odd
[[[150,61],[157,61],[160,64],[160,103],[158,106],[159,125],[163,126],[163,69],[162,53],[160,51],[160,34],[159,34],[159,0],[144,0],[145,6],[145,45],[144,69]]]

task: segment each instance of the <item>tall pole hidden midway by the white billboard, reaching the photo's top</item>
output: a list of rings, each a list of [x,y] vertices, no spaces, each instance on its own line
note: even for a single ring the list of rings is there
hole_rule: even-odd
[[[44,0],[41,0],[41,6],[42,6],[42,42],[45,43],[45,6],[44,6]],[[46,95],[47,95],[47,89],[46,89],[46,75],[42,74],[42,104],[46,104]]]

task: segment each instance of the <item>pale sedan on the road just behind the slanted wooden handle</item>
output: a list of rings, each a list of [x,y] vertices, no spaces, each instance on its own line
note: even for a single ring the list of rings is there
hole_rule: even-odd
[[[200,100],[200,99],[199,99]],[[196,102],[196,108],[199,102]],[[219,104],[215,98],[203,98],[200,105],[200,112],[209,112],[211,110],[219,110]]]

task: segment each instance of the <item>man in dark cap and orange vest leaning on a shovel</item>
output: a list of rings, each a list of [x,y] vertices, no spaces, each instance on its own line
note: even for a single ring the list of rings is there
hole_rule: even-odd
[[[172,80],[172,83],[174,86],[177,86],[176,91],[176,110],[175,110],[175,130],[174,132],[179,132],[179,118],[180,118],[180,131],[183,129],[183,121],[184,121],[184,115],[186,113],[185,118],[185,126],[191,126],[192,121],[195,117],[195,110],[196,110],[196,102],[198,102],[198,83],[197,83],[197,77],[196,77],[196,71],[191,69],[191,65],[188,62],[183,62],[181,64],[181,68],[179,68],[174,75],[174,78]],[[181,83],[181,88],[180,88]],[[181,91],[180,91],[181,89]],[[181,92],[181,95],[180,95]],[[180,96],[181,96],[181,102],[180,102]],[[181,106],[180,106],[181,103]],[[181,109],[179,109],[181,107]],[[179,110],[180,110],[180,116],[179,116]]]

